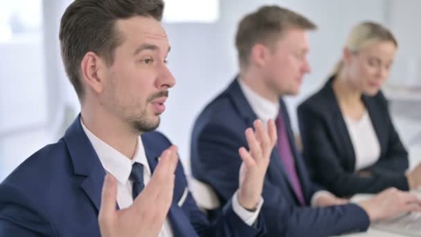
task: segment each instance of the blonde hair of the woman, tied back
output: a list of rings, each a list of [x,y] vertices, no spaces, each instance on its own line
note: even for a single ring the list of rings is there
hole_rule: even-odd
[[[346,39],[345,47],[352,53],[358,53],[368,46],[372,46],[379,42],[392,42],[397,47],[397,40],[390,30],[378,23],[364,21],[352,28]],[[331,76],[337,75],[342,67],[343,60],[339,60],[333,68]]]

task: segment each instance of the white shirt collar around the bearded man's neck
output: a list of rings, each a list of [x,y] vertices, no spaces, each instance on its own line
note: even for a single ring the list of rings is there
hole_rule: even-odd
[[[95,136],[91,131],[89,131],[83,124],[82,119],[80,119],[82,128],[87,134],[89,141],[95,150],[96,155],[101,161],[102,166],[108,173],[116,177],[118,182],[125,184],[129,179],[130,173],[132,172],[132,165],[135,162],[138,162],[145,167],[145,170],[150,175],[149,164],[147,163],[145,148],[143,147],[142,139],[139,136],[137,139],[137,147],[134,152],[133,159],[129,159],[125,155],[121,154],[118,150],[112,148],[107,143]]]

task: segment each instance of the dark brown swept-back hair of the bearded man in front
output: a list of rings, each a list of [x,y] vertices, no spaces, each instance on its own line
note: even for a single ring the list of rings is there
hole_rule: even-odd
[[[118,19],[134,16],[161,21],[163,0],[75,0],[66,8],[60,23],[60,47],[67,76],[79,100],[83,97],[80,63],[91,51],[114,61],[114,51],[122,42],[116,30]]]

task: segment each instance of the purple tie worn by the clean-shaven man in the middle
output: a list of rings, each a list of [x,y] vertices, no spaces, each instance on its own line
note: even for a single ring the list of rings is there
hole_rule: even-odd
[[[291,146],[289,144],[282,111],[279,112],[278,118],[276,118],[276,128],[278,130],[278,152],[280,159],[283,161],[283,165],[287,171],[289,181],[292,183],[295,194],[300,201],[301,206],[304,207],[305,201],[303,190],[301,189],[300,179],[298,179],[297,171],[295,168],[294,157],[292,155]]]

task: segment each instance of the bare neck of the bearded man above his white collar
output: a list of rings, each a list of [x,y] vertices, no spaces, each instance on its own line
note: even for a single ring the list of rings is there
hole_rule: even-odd
[[[121,154],[132,159],[140,134],[134,132],[129,126],[115,116],[84,109],[82,107],[82,121],[85,127],[98,139],[101,139]]]

